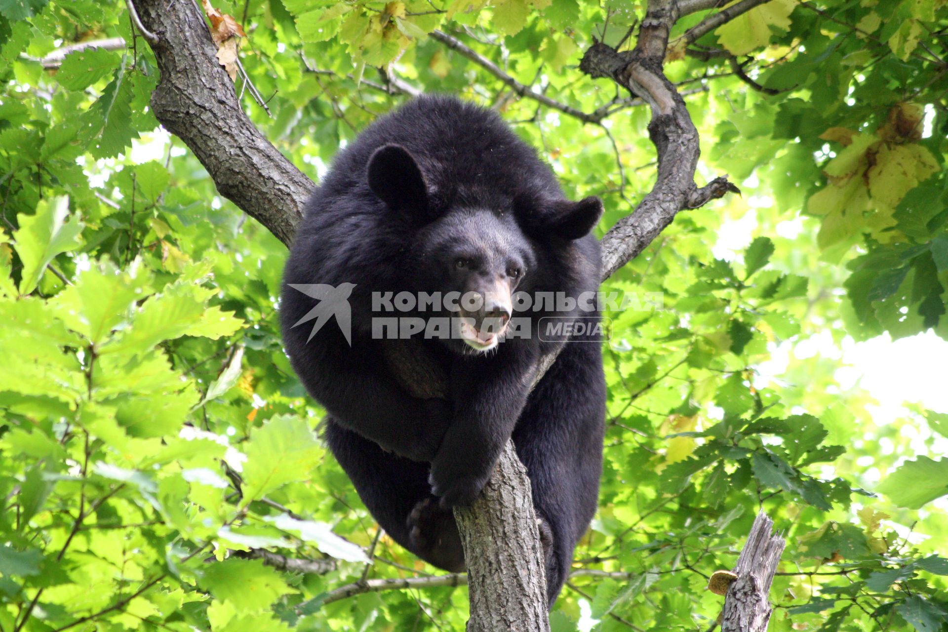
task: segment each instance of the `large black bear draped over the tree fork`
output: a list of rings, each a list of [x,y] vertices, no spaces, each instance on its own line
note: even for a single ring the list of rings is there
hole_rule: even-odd
[[[551,606],[593,518],[602,467],[601,336],[572,326],[598,322],[588,297],[601,213],[597,198],[566,200],[501,117],[422,97],[337,154],[283,279],[286,351],[379,525],[434,566],[464,569],[450,509],[477,496],[512,437],[533,486]],[[428,304],[406,299],[410,313],[392,313],[404,293]],[[433,304],[439,296],[445,304]],[[320,305],[337,322],[317,317]],[[447,376],[447,398],[403,388],[386,345],[405,331],[378,326],[392,316],[450,316],[447,335],[407,330]],[[556,351],[531,391],[538,362]]]

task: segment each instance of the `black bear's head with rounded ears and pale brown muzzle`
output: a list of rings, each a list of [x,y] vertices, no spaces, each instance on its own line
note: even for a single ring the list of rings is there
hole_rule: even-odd
[[[444,186],[429,183],[415,157],[385,145],[369,160],[369,187],[389,211],[411,227],[415,289],[446,298],[456,313],[441,339],[456,352],[489,352],[508,333],[515,293],[534,292],[551,275],[551,249],[565,251],[589,235],[602,203],[579,202],[542,188],[491,190],[492,183],[462,187],[444,200]],[[575,256],[575,255],[572,255]],[[541,272],[541,268],[545,271]]]

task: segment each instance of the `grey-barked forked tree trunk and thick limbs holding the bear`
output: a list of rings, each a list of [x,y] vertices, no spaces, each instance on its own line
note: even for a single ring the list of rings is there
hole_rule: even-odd
[[[152,98],[155,117],[191,148],[222,195],[283,244],[291,244],[313,183],[244,114],[232,82],[217,63],[204,17],[191,2],[135,0],[134,5],[143,26],[157,36],[157,41],[150,43],[161,72]],[[701,189],[694,183],[698,133],[684,100],[662,73],[668,32],[678,18],[677,11],[674,0],[650,0],[633,51],[618,53],[597,43],[580,65],[587,74],[609,77],[647,100],[652,108],[648,132],[659,158],[654,189],[602,241],[604,278],[642,252],[678,211],[698,208],[736,190],[725,178]],[[443,376],[405,351],[393,347],[389,360],[410,373],[406,382],[412,392],[428,397],[443,393],[439,386]],[[399,358],[408,359],[399,362]],[[537,379],[554,360],[547,359]],[[468,629],[547,630],[545,581],[530,481],[511,442],[481,497],[455,515],[470,574]]]

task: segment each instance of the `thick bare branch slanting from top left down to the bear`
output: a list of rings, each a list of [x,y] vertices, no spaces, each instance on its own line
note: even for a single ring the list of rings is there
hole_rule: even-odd
[[[221,195],[290,244],[313,182],[246,117],[193,3],[136,0],[135,6],[158,38],[155,117],[191,148]]]

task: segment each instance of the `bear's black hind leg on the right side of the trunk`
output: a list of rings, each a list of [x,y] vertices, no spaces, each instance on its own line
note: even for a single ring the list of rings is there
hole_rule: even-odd
[[[546,559],[550,607],[570,572],[575,545],[598,506],[605,402],[599,345],[567,343],[531,393],[514,431],[538,517],[550,532],[542,533],[540,525],[541,536],[553,539]]]

